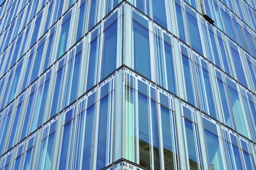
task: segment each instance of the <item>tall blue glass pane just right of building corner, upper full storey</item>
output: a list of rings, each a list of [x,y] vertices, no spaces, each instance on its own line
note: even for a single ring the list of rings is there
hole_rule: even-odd
[[[151,79],[149,31],[135,20],[132,21],[134,31],[134,70]]]

